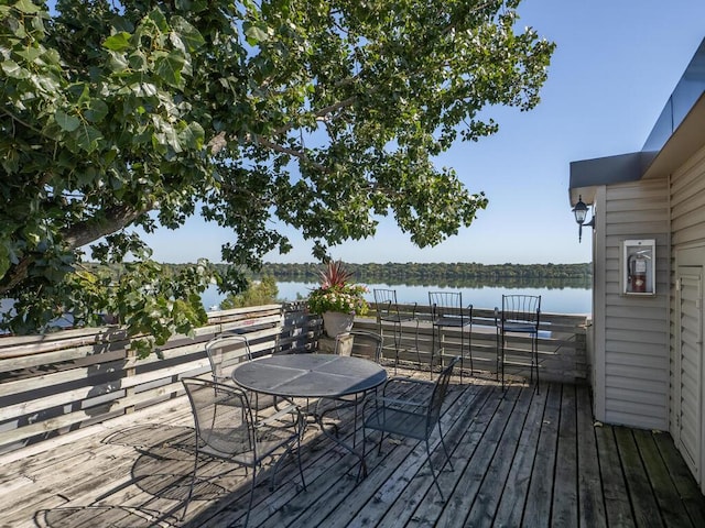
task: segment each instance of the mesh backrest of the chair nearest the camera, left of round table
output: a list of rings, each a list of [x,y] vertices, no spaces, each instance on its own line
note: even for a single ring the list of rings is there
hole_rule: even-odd
[[[182,383],[191,402],[198,449],[206,446],[221,458],[254,452],[254,419],[242,389],[195,377]]]

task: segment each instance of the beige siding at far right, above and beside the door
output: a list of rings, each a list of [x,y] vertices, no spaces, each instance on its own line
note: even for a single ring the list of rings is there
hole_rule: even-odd
[[[671,176],[671,243],[672,243],[672,275],[671,287],[674,295],[671,298],[671,355],[670,355],[670,409],[671,419],[669,430],[677,436],[676,417],[680,404],[677,402],[679,359],[677,355],[677,321],[675,295],[675,271],[679,265],[676,254],[680,250],[705,246],[705,147],[696,152],[687,162],[679,167]],[[705,266],[705,262],[702,263]]]

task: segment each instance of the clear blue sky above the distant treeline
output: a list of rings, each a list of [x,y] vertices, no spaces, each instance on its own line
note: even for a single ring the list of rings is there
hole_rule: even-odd
[[[393,221],[377,237],[333,248],[346,262],[589,262],[589,232],[578,244],[568,204],[570,163],[641,150],[666,99],[705,37],[705,0],[524,0],[521,25],[557,44],[530,112],[492,109],[499,132],[458,143],[438,165],[452,166],[489,206],[471,227],[420,250]],[[145,237],[162,262],[220,261],[228,233],[192,219],[178,231]],[[270,262],[312,262],[310,244]]]

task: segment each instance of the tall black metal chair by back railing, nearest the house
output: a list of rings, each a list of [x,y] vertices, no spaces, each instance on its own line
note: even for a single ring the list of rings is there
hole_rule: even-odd
[[[505,363],[507,340],[512,334],[529,336],[531,339],[531,382],[536,371],[536,393],[539,392],[539,324],[541,321],[540,295],[502,295],[502,310],[495,309],[497,329],[497,373],[501,372],[505,388]]]

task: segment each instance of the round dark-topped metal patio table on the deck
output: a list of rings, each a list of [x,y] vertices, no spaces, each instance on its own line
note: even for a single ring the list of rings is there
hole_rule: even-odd
[[[247,361],[232,370],[232,381],[239,386],[286,398],[332,398],[357,396],[387,381],[387,371],[361,358],[329,354],[271,355]],[[357,413],[357,410],[356,410]],[[367,465],[361,453],[329,435],[322,415],[306,409],[323,433],[360,459],[362,474]]]

